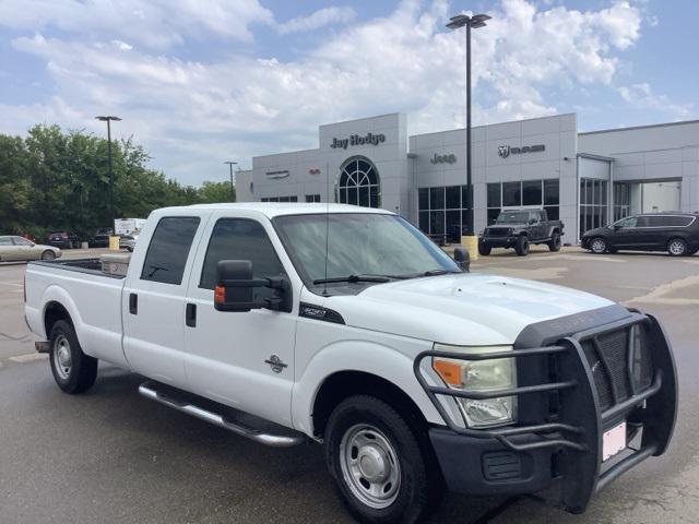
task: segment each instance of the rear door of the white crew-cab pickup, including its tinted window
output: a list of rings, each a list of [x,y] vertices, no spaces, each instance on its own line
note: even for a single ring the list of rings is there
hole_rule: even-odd
[[[129,365],[141,374],[179,388],[187,388],[187,285],[200,239],[197,234],[205,225],[206,213],[178,210],[177,215],[156,215],[149,222],[143,236],[147,246],[138,246],[131,258],[121,300]]]

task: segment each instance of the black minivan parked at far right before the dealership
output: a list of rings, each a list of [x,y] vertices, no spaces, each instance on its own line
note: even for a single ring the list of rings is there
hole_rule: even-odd
[[[580,246],[593,253],[667,251],[673,257],[699,252],[697,213],[643,213],[585,231]]]

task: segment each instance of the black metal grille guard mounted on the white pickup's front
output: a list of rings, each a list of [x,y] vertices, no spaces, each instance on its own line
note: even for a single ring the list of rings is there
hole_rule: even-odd
[[[650,386],[642,391],[633,390],[627,400],[603,410],[600,407],[592,370],[581,343],[587,340],[594,342],[597,336],[605,333],[629,329],[641,323],[648,327],[648,340],[651,345],[654,369],[652,382]],[[458,360],[517,358],[518,362],[522,359],[553,357],[558,361],[558,376],[555,382],[528,384],[485,393],[451,390],[427,383],[420,364],[424,359],[433,357]],[[630,360],[630,352],[628,357]],[[572,513],[584,511],[595,491],[643,460],[663,454],[672,438],[677,415],[677,372],[668,338],[653,315],[635,311],[625,319],[561,337],[553,345],[543,347],[474,355],[423,352],[416,357],[413,370],[417,381],[452,431],[472,438],[496,439],[505,448],[516,452],[544,448],[558,452],[558,475],[561,484],[559,500],[556,502]],[[454,424],[438,398],[439,395],[445,395],[452,398],[483,400],[552,393],[557,394],[559,402],[555,419],[542,417],[538,424],[485,429],[472,429]],[[638,450],[629,448],[627,451],[631,451],[630,453],[626,453],[618,462],[613,461],[614,464],[602,472],[603,432],[631,414],[633,424],[642,425],[643,428],[640,448]],[[533,436],[538,437],[538,440],[517,443],[511,439],[516,436]]]

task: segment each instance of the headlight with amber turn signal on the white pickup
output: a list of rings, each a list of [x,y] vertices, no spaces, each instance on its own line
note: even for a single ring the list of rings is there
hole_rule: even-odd
[[[469,354],[511,352],[512,346],[464,347],[435,344],[435,350]],[[433,358],[433,369],[452,390],[488,392],[517,388],[514,358],[490,360],[461,360]],[[517,417],[517,397],[500,396],[487,400],[457,398],[469,427],[501,426],[513,422]]]

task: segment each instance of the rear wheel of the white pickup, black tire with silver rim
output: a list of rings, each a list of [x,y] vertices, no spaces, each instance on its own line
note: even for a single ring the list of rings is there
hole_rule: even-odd
[[[83,353],[75,330],[64,320],[51,327],[49,361],[54,380],[66,393],[84,393],[95,383],[97,359]]]

